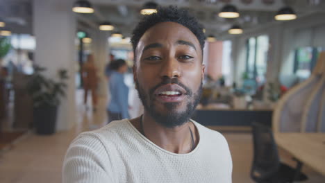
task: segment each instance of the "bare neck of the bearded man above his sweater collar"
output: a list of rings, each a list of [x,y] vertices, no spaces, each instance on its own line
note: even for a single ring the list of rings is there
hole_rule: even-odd
[[[190,153],[193,145],[196,146],[198,141],[197,130],[190,121],[174,128],[166,128],[157,123],[151,116],[144,113],[142,116],[142,128],[140,118],[134,119],[131,123],[133,123],[135,128],[140,132],[143,130],[144,136],[147,137],[147,139],[160,148],[172,153]],[[191,130],[193,132],[194,144],[192,144]]]

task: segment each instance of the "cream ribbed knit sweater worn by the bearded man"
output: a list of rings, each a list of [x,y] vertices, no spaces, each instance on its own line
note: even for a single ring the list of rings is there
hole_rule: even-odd
[[[83,132],[67,150],[63,182],[231,182],[226,139],[193,123],[200,139],[188,154],[156,146],[126,119]]]

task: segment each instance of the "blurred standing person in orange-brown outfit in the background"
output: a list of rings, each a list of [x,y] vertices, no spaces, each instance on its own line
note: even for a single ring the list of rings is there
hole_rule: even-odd
[[[83,76],[83,89],[84,89],[84,101],[86,109],[88,108],[87,99],[88,99],[88,92],[92,93],[92,110],[96,111],[97,106],[97,69],[94,65],[94,55],[88,55],[87,62],[83,64],[82,69],[82,76]]]

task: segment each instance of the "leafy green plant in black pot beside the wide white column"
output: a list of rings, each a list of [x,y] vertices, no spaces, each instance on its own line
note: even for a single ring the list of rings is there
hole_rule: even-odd
[[[65,96],[67,70],[58,70],[59,80],[46,78],[44,67],[35,66],[34,73],[27,83],[28,93],[33,98],[33,123],[38,134],[53,134],[56,129],[56,116],[60,98]]]

